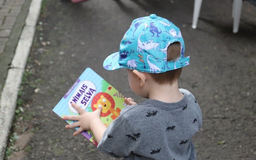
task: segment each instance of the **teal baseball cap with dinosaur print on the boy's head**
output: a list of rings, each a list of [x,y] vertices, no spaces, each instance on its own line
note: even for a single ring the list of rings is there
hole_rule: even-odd
[[[180,43],[180,57],[167,61],[167,48],[173,42]],[[184,57],[184,51],[180,29],[169,20],[151,14],[132,21],[120,43],[119,52],[109,55],[103,62],[103,68],[163,73],[189,64],[189,57]]]

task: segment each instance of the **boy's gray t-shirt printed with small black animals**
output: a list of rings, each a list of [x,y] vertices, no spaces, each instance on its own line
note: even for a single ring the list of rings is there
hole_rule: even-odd
[[[176,103],[147,99],[122,109],[98,149],[124,159],[196,159],[191,138],[202,127],[202,113],[192,93],[180,92]]]

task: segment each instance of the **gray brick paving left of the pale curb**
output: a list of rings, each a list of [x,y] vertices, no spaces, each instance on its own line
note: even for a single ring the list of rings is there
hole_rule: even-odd
[[[31,0],[0,0],[0,93]]]

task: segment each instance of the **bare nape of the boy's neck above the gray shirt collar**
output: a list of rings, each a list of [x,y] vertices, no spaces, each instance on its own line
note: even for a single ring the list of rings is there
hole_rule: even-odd
[[[150,87],[148,98],[151,100],[159,100],[166,103],[178,102],[183,98],[183,94],[179,91],[178,81],[172,85],[154,84]]]

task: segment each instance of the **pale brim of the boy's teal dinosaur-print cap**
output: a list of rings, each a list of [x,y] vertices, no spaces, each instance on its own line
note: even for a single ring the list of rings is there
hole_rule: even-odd
[[[123,66],[120,66],[118,63],[119,60],[119,52],[110,54],[106,60],[103,62],[103,68],[106,70],[115,70],[119,68],[123,68]]]

